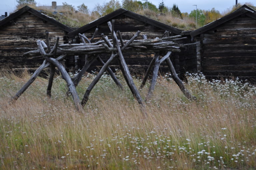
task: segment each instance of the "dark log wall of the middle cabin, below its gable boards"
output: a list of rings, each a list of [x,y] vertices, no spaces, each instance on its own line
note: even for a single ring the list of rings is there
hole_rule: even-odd
[[[153,25],[149,25],[146,24],[145,22],[142,22],[140,20],[136,20],[134,18],[130,18],[128,16],[125,15],[119,15],[115,18],[113,18],[115,20],[115,25],[114,25],[114,30],[120,30],[122,38],[123,39],[130,39],[132,38],[132,36],[139,30],[141,31],[140,36],[137,37],[137,39],[142,39],[141,35],[142,34],[147,34],[147,38],[156,38],[156,37],[161,37],[164,32],[166,30],[157,28]],[[110,30],[109,27],[107,25],[107,21],[104,24],[98,25],[98,34],[97,34],[97,38],[101,38],[101,33],[104,33],[104,35],[108,35],[109,39],[111,38],[110,35]],[[92,37],[94,31],[95,31],[96,27],[91,28],[90,30],[87,30],[86,32],[82,32],[85,34],[86,37],[90,38]],[[171,34],[171,35],[175,35],[175,34]],[[97,40],[97,38],[94,39],[94,41]],[[186,42],[189,41],[190,42],[190,38],[188,40],[185,40]],[[183,43],[183,42],[181,42]],[[187,58],[190,59],[189,55],[194,55],[194,58],[196,58],[196,54],[194,52],[194,54],[192,54],[192,51],[183,51],[181,54],[182,56],[180,57],[182,59],[182,62],[184,64],[184,60],[186,60]],[[177,53],[178,54],[178,53]],[[173,54],[173,55],[177,55],[177,54]],[[106,61],[107,58],[109,56],[105,56],[103,55],[103,60]],[[124,57],[125,57],[125,61],[127,63],[127,65],[129,66],[129,68],[131,68],[134,72],[137,73],[142,73],[143,71],[145,71],[145,69],[147,69],[149,63],[151,62],[152,58],[154,57],[153,53],[129,53],[126,52],[124,53]],[[177,58],[177,57],[176,57]],[[177,72],[180,72],[180,69],[184,72],[185,70],[185,66],[182,65],[181,67],[179,66],[179,58],[178,60],[175,60],[175,57],[172,57],[172,61],[174,62],[175,68],[177,68],[178,70],[176,70]],[[74,61],[72,61],[72,58],[70,58],[69,61],[70,64],[73,65]],[[84,62],[80,62],[80,67],[83,65]],[[195,59],[195,64],[196,64],[196,59]],[[118,65],[117,61],[113,61],[111,63],[112,67],[115,67]],[[168,72],[168,67],[166,65],[166,63],[162,64],[163,66],[160,67],[160,71],[161,72]],[[89,68],[90,70],[94,70],[97,68],[100,68],[101,64],[98,62],[93,63],[93,65]],[[189,67],[186,67],[186,69]]]

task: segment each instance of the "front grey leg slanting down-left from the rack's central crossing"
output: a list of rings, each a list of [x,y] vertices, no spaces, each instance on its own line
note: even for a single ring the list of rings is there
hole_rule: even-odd
[[[103,75],[103,73],[105,72],[105,70],[107,69],[107,67],[109,66],[109,64],[111,63],[111,61],[117,56],[117,54],[114,54],[114,52],[112,52],[111,57],[108,59],[108,61],[103,65],[103,67],[100,69],[100,72],[97,74],[97,76],[95,77],[95,79],[91,82],[91,84],[88,86],[88,88],[86,89],[86,92],[84,94],[84,97],[81,101],[81,105],[84,107],[85,104],[87,103],[88,99],[89,99],[89,95],[90,92],[92,91],[93,87],[96,85],[96,83],[100,80],[100,77]]]

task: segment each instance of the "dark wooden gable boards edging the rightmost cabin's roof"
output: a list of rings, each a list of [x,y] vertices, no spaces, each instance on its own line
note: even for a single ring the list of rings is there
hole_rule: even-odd
[[[216,21],[213,21],[209,24],[206,24],[206,25],[204,25],[203,27],[201,27],[197,30],[191,31],[190,35],[191,35],[191,37],[195,37],[195,36],[197,36],[201,33],[204,33],[205,31],[208,31],[208,30],[210,30],[214,27],[217,27],[217,26],[219,26],[219,25],[221,25],[221,24],[223,24],[223,23],[225,23],[225,22],[227,22],[227,21],[229,21],[233,18],[236,18],[236,17],[238,17],[242,14],[245,14],[245,15],[251,17],[251,18],[256,19],[256,11],[253,8],[251,8],[247,5],[243,5],[242,7],[235,10],[234,12],[232,12],[232,13],[230,13],[230,14],[222,17],[222,18],[219,18]]]

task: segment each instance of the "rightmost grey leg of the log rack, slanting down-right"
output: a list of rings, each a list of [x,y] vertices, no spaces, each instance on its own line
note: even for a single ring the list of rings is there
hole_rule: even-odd
[[[183,82],[180,80],[180,78],[177,76],[177,73],[173,67],[173,64],[171,62],[170,58],[167,58],[166,63],[168,64],[169,70],[171,72],[172,78],[173,80],[177,83],[177,85],[179,86],[180,90],[182,91],[182,93],[188,98],[188,99],[192,99],[192,100],[196,100],[196,97],[193,96],[192,94],[190,94],[190,92],[186,89],[185,85],[183,84]]]

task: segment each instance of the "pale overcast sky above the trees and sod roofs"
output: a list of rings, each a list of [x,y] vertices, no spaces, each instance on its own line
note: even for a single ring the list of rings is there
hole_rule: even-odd
[[[51,2],[54,0],[36,0],[38,5],[51,5]],[[109,0],[55,0],[57,2],[57,5],[62,5],[62,2],[67,2],[68,4],[72,4],[75,7],[78,5],[84,3],[88,6],[90,10],[92,10],[95,6],[95,4],[99,3],[102,4],[103,2],[108,2]],[[122,0],[120,0],[121,2]],[[244,2],[253,2],[255,0],[238,0],[239,3]],[[158,6],[162,0],[149,0],[149,2],[155,4]],[[220,12],[223,12],[227,10],[228,8],[231,8],[233,5],[235,5],[236,0],[164,0],[163,1],[166,6],[171,7],[174,3],[176,3],[180,9],[181,12],[191,12],[193,9],[195,9],[195,6],[197,5],[197,8],[199,9],[212,9],[215,8],[219,10]],[[15,10],[15,5],[17,4],[16,0],[0,0],[0,15],[4,15],[4,12],[8,12],[8,15],[10,12],[13,12]],[[254,3],[255,5],[255,3]]]

